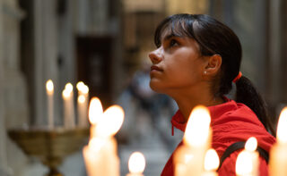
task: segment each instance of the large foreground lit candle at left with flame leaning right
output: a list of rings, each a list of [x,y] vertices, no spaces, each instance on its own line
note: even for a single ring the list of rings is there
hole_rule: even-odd
[[[83,158],[89,176],[119,176],[117,141],[114,135],[124,122],[124,110],[113,105],[100,118],[96,136],[83,147]]]

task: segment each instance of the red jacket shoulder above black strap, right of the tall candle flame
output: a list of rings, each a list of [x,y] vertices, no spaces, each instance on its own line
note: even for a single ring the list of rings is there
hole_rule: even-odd
[[[267,152],[274,144],[275,138],[247,105],[230,100],[216,111],[211,111],[213,148],[219,155],[234,142],[247,141],[250,137],[257,138],[258,145]]]

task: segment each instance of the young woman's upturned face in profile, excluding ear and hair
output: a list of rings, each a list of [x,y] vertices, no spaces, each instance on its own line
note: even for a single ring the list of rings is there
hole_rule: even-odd
[[[156,92],[169,94],[188,90],[203,81],[204,57],[192,38],[163,34],[161,46],[149,57],[152,61],[150,86]]]

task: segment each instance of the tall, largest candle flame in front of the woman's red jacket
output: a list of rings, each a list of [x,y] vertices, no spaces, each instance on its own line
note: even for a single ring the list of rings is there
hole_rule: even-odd
[[[209,136],[209,125],[211,122],[209,111],[203,105],[198,105],[190,113],[184,142],[193,147],[204,145]]]

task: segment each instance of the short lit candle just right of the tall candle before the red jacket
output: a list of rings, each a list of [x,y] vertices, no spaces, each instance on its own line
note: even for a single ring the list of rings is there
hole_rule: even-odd
[[[219,166],[219,157],[214,149],[207,150],[204,157],[203,176],[218,176],[216,170]]]

